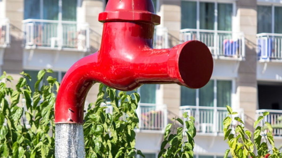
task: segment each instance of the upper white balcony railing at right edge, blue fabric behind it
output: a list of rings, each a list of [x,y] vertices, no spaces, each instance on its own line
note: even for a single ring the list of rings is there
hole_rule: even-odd
[[[257,53],[260,60],[282,60],[282,34],[257,34]]]

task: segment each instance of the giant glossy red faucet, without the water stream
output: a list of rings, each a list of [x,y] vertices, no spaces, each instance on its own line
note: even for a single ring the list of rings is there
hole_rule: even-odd
[[[56,123],[83,123],[85,98],[96,82],[130,91],[144,83],[200,88],[210,80],[213,59],[202,42],[152,49],[154,25],[160,21],[153,12],[151,0],[108,2],[99,15],[104,22],[99,51],[80,59],[63,78],[56,100]]]

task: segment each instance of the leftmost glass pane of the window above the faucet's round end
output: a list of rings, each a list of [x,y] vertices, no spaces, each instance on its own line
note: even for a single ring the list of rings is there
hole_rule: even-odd
[[[181,1],[181,28],[195,29],[197,24],[197,3]]]

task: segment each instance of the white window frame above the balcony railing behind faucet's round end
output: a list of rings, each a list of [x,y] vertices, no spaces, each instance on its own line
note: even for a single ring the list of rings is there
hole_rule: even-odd
[[[218,4],[219,3],[225,3],[225,4],[232,4],[232,25],[231,25],[231,31],[233,30],[236,30],[235,28],[235,23],[236,23],[236,0],[217,0],[217,1],[214,1],[214,0],[181,0],[181,1],[189,1],[189,2],[196,2],[196,6],[197,6],[197,9],[196,9],[196,29],[197,30],[202,30],[200,29],[200,3],[203,2],[203,3],[214,3],[214,29],[215,31],[218,31]],[[181,7],[180,7],[181,8]],[[181,29],[186,29],[186,28],[181,28]],[[189,29],[189,28],[187,28]]]

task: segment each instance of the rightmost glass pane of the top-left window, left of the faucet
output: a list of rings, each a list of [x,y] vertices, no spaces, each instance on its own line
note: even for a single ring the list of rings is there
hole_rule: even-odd
[[[63,21],[76,21],[76,0],[62,0]]]

